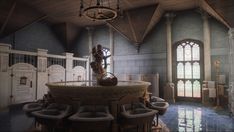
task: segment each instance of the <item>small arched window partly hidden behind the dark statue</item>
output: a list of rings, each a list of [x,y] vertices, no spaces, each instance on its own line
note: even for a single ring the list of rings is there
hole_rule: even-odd
[[[110,49],[103,47],[102,51],[103,51],[102,65],[106,69],[106,72],[110,72],[110,57],[111,57]]]

